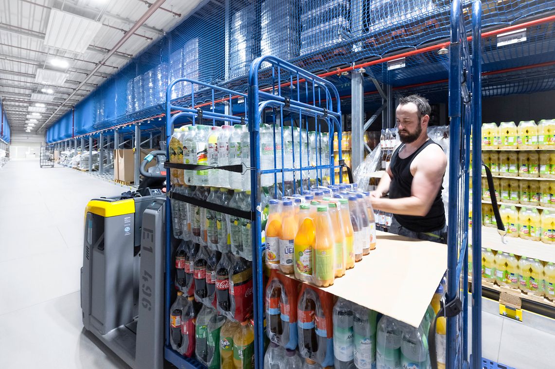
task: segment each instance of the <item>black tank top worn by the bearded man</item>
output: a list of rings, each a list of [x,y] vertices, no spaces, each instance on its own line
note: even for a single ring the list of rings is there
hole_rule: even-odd
[[[425,143],[420,146],[414,153],[405,159],[399,158],[399,150],[405,146],[404,144],[399,146],[393,155],[391,156],[391,174],[393,178],[391,180],[391,185],[389,187],[389,197],[390,199],[401,199],[408,198],[411,196],[411,186],[412,186],[412,174],[411,174],[411,163],[412,160],[416,158],[416,155],[420,153],[426,146],[436,144],[433,140],[428,139]],[[438,145],[440,146],[440,145]],[[440,146],[441,147],[441,146]],[[413,232],[431,232],[442,229],[445,225],[445,208],[443,208],[443,200],[441,199],[441,191],[443,186],[437,194],[435,194],[435,199],[433,200],[432,207],[428,214],[425,216],[414,216],[414,215],[398,215],[393,214],[395,219],[403,227],[413,231]]]

